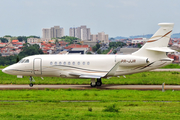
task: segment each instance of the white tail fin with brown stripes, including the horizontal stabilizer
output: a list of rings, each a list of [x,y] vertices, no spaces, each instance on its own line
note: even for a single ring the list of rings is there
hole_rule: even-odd
[[[159,59],[165,57],[165,52],[175,52],[167,47],[174,23],[159,23],[158,25],[161,26],[159,30],[132,55]]]

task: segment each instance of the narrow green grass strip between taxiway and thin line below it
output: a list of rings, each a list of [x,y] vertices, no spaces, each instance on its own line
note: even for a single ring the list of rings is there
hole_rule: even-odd
[[[180,101],[180,91],[167,90],[165,92],[139,90],[1,90],[0,100],[23,101]]]

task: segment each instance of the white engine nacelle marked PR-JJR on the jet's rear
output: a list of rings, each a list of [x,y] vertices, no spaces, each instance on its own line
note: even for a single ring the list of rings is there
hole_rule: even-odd
[[[136,57],[136,56],[130,56],[127,58],[120,59],[120,65],[122,67],[132,67],[132,66],[143,66],[147,65],[149,63],[148,58],[146,57]]]

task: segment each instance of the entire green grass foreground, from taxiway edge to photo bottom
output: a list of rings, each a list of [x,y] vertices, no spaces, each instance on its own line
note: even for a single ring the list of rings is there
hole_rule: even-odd
[[[0,100],[33,100],[33,102],[0,101],[0,119],[175,120],[180,117],[180,104],[175,102],[180,100],[179,94],[180,91],[170,90],[165,92],[97,89],[1,90]],[[59,102],[60,100],[100,100],[101,102]],[[154,102],[154,100],[164,102]]]

